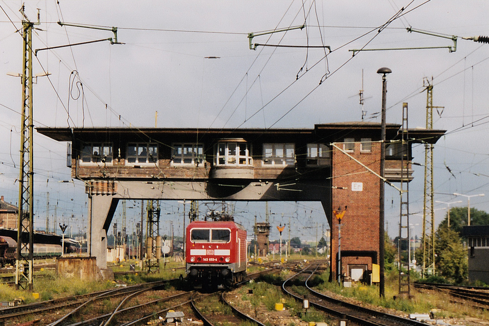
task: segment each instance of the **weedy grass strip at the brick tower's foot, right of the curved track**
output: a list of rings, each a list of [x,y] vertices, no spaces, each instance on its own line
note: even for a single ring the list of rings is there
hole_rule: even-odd
[[[381,307],[392,308],[406,313],[429,313],[431,309],[441,309],[436,312],[436,318],[465,318],[474,317],[489,320],[489,312],[477,309],[471,304],[451,303],[447,294],[437,291],[418,291],[411,287],[412,299],[397,298],[394,296],[399,293],[399,274],[397,271],[390,271],[385,277],[385,297],[379,297],[377,285],[356,284],[352,287],[343,287],[337,282],[328,282],[329,272],[316,276],[310,280],[309,285],[314,286],[320,292],[328,290],[344,297],[355,298],[367,304]]]

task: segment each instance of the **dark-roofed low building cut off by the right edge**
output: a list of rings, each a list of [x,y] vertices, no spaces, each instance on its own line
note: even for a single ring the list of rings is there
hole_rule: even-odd
[[[489,225],[464,226],[462,236],[467,238],[469,281],[489,284]]]

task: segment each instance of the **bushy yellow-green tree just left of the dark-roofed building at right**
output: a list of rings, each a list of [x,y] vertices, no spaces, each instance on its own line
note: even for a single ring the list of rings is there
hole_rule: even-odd
[[[443,277],[456,283],[462,283],[467,279],[467,251],[456,231],[447,226],[439,227],[436,232],[435,252],[435,263]]]

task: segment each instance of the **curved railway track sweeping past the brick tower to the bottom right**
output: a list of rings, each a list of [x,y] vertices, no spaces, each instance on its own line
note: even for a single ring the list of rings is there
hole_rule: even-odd
[[[365,307],[350,304],[344,301],[333,299],[322,293],[314,291],[308,286],[308,281],[312,275],[314,275],[314,270],[303,269],[301,272],[290,277],[282,284],[282,289],[285,293],[289,294],[297,301],[302,302],[304,299],[303,295],[299,295],[291,290],[291,286],[300,286],[309,291],[308,300],[309,303],[316,309],[322,310],[336,318],[347,319],[355,325],[362,326],[420,326],[426,325],[414,320],[398,317],[395,315],[379,312],[377,310],[368,309]],[[311,274],[307,278],[302,275],[305,273]],[[299,279],[301,278],[301,279]],[[299,281],[294,281],[299,280]],[[351,324],[349,324],[351,325]]]

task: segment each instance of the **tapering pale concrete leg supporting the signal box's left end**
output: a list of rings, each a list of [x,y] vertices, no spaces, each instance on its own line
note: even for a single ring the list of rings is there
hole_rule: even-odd
[[[87,249],[99,268],[107,268],[107,233],[118,201],[111,195],[89,195]]]

